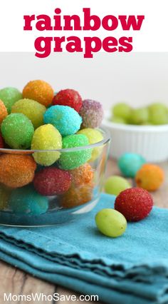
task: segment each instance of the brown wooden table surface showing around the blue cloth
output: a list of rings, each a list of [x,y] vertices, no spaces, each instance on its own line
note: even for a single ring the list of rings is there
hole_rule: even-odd
[[[167,196],[167,186],[168,186],[168,163],[160,163],[159,166],[164,168],[164,172],[166,175],[164,185],[156,192],[152,193],[152,196],[154,198],[154,205],[167,208],[168,207],[168,196]],[[119,175],[120,172],[117,168],[116,161],[109,160],[107,163],[107,172],[106,176],[110,175]],[[131,181],[131,180],[130,180]],[[132,181],[131,181],[132,182]],[[28,275],[28,273],[24,273],[23,271],[11,267],[11,265],[8,265],[4,262],[0,262],[0,303],[6,303],[4,302],[4,293],[9,294],[15,294],[15,295],[30,295],[31,293],[43,293],[45,295],[53,295],[53,293],[59,293],[59,295],[76,295],[78,297],[78,294],[75,293],[73,290],[66,290],[65,288],[62,288],[58,285],[53,285],[47,282],[44,282],[43,280],[39,280],[38,278],[33,278],[33,276]],[[10,302],[10,303],[25,303],[25,302]],[[39,303],[36,301],[30,301],[28,302],[30,304]],[[40,303],[46,303],[45,301]],[[47,303],[55,303],[53,302],[47,302]],[[76,301],[57,301],[56,303],[61,304],[70,304],[70,303],[80,303],[80,300]],[[91,303],[83,301],[81,302],[83,304]]]

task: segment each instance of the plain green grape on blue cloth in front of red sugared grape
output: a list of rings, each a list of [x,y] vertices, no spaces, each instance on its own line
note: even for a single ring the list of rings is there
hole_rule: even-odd
[[[101,233],[112,238],[122,235],[127,228],[127,221],[122,213],[110,208],[99,211],[95,216],[95,223]]]

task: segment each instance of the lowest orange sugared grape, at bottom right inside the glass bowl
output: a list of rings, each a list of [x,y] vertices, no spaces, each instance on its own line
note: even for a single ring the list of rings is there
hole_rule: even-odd
[[[63,208],[75,208],[88,203],[93,198],[93,185],[71,186],[69,190],[60,196],[60,203]]]

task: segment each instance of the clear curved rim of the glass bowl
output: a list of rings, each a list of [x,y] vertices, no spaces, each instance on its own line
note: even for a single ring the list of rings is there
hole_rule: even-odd
[[[110,141],[110,133],[107,131],[106,128],[96,128],[96,130],[100,131],[103,133],[103,140],[98,141],[98,143],[93,143],[92,145],[88,146],[80,146],[80,147],[75,147],[75,148],[61,148],[61,149],[54,149],[54,150],[21,150],[21,149],[10,149],[10,148],[0,148],[0,153],[25,153],[25,154],[32,154],[35,152],[75,152],[75,151],[81,151],[85,149],[90,149],[90,148],[98,148],[100,146],[105,146]]]

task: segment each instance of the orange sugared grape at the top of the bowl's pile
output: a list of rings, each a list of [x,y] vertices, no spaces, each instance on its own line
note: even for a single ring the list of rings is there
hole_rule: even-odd
[[[23,88],[23,98],[33,99],[43,104],[43,106],[49,106],[53,100],[53,96],[53,88],[43,80],[29,81]]]

